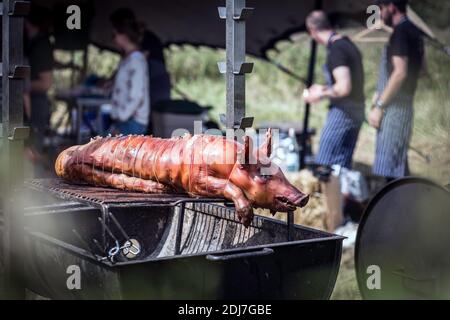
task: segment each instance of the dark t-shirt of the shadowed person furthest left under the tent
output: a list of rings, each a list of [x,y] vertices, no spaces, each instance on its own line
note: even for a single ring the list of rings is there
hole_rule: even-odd
[[[53,47],[47,36],[39,34],[31,39],[26,55],[31,68],[31,81],[38,79],[39,73],[53,70]]]

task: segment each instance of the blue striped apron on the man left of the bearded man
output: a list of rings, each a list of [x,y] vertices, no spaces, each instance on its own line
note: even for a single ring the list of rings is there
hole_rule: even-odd
[[[325,79],[332,85],[331,72],[324,66]],[[339,165],[351,169],[353,151],[364,120],[364,106],[331,105],[322,129],[319,152],[315,163],[323,166]]]

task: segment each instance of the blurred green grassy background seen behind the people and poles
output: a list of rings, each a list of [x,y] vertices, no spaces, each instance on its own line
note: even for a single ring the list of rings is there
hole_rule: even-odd
[[[450,40],[448,13],[450,1],[412,0],[413,9],[430,24],[443,41]],[[361,28],[340,30],[349,36]],[[306,34],[296,35],[294,40],[280,41],[276,48],[268,52],[270,60],[279,62],[296,74],[306,77],[309,60],[310,39]],[[448,40],[447,40],[448,39]],[[366,75],[365,92],[367,108],[376,87],[378,62],[382,43],[358,43],[364,59]],[[427,45],[428,76],[421,79],[415,100],[415,126],[412,145],[425,154],[433,156],[432,163],[426,164],[416,153],[410,153],[414,173],[450,182],[450,59],[436,48]],[[58,53],[58,59],[73,61],[81,66],[81,52],[70,55]],[[217,62],[225,60],[225,51],[190,45],[170,46],[165,49],[167,67],[172,83],[191,100],[204,106],[213,106],[211,117],[218,121],[219,114],[225,113],[225,76],[217,68]],[[110,77],[119,63],[120,57],[108,51],[91,46],[89,48],[88,74]],[[315,76],[317,82],[324,82],[322,65],[325,49],[319,46]],[[267,60],[249,56],[247,61],[255,62],[254,71],[246,77],[247,114],[255,116],[256,125],[268,121],[289,122],[300,127],[303,121],[304,103],[301,99],[303,84],[278,70]],[[68,70],[56,73],[58,87],[68,87],[77,83],[77,74]],[[181,98],[178,90],[172,96]],[[310,125],[320,129],[327,114],[327,103],[312,107]],[[364,125],[360,134],[355,160],[370,168],[374,157],[375,131]]]

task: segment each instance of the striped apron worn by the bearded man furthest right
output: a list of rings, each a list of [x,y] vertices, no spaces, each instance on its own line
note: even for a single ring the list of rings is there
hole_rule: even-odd
[[[389,80],[387,45],[381,57],[377,92],[382,93]],[[377,132],[373,173],[388,178],[409,174],[408,147],[414,121],[413,97],[401,93],[385,109]]]

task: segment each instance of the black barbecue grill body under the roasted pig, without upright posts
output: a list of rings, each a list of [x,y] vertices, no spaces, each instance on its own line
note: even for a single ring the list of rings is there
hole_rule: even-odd
[[[48,298],[327,299],[336,281],[343,237],[293,225],[288,241],[262,216],[245,228],[223,199],[25,185],[27,288]]]

